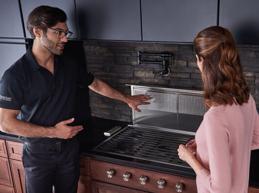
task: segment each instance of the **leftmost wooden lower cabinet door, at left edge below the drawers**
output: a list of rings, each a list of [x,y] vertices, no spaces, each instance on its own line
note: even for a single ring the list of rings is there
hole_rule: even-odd
[[[13,187],[8,158],[0,157],[0,184]]]

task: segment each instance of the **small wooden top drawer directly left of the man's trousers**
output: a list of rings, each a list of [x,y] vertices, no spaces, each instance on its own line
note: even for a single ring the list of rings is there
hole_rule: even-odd
[[[22,161],[22,143],[14,141],[6,141],[7,150],[10,159]]]

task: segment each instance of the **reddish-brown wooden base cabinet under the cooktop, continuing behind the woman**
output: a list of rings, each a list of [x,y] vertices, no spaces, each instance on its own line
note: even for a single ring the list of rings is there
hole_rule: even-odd
[[[184,185],[183,193],[197,193],[194,178],[110,163],[93,158],[89,159],[89,165],[92,193],[176,193],[176,184]],[[129,180],[125,181],[123,175],[127,172],[131,175]],[[140,184],[139,178],[143,175],[147,176],[148,180],[145,184]],[[162,188],[157,187],[158,180],[165,181]],[[249,187],[248,193],[259,193],[259,188]]]

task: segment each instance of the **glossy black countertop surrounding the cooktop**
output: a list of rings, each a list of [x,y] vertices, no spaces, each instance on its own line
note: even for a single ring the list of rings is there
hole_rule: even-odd
[[[152,162],[147,160],[141,160],[136,158],[130,158],[126,156],[120,156],[110,153],[98,152],[93,150],[100,143],[108,139],[103,133],[108,129],[119,125],[123,128],[130,123],[123,121],[108,120],[103,118],[91,117],[83,124],[84,129],[77,134],[77,139],[80,144],[80,151],[83,156],[98,158],[106,161],[127,164],[130,166],[137,166],[162,172],[175,173],[180,175],[186,175],[189,177],[195,177],[195,172],[192,169],[173,166],[170,164],[163,164],[158,162]],[[20,141],[16,135],[0,132],[0,138]],[[259,187],[259,150],[253,150],[251,155],[251,168],[249,185]]]

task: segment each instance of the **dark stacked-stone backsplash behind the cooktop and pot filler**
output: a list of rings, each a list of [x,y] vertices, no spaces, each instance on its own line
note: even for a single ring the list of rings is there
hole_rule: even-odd
[[[259,46],[238,45],[244,77],[259,110]],[[111,86],[130,94],[126,84],[177,86],[202,90],[200,71],[192,44],[84,41],[87,70]],[[160,64],[137,65],[137,51],[172,54],[167,77],[154,75]],[[161,61],[160,57],[142,60]],[[132,110],[124,102],[89,91],[91,115],[113,120],[132,121]]]

